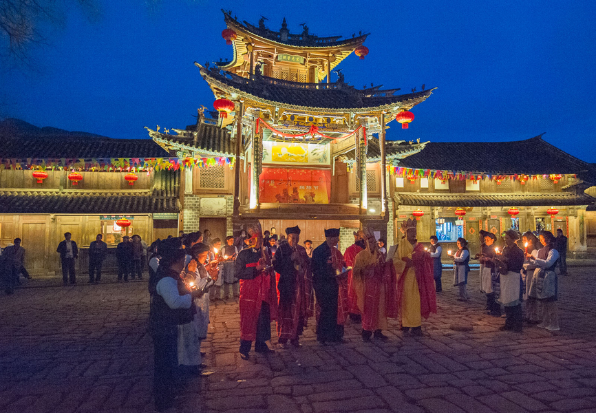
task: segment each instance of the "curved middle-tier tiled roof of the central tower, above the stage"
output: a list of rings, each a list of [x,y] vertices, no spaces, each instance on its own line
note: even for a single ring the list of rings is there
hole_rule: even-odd
[[[195,63],[198,65],[198,63]],[[348,109],[412,107],[423,102],[433,89],[410,94],[394,95],[396,89],[356,89],[346,83],[299,83],[281,81],[260,75],[243,78],[228,72],[207,70],[201,65],[201,74],[215,87],[228,92],[244,94],[261,103],[281,103],[288,107],[330,109],[341,112]]]

